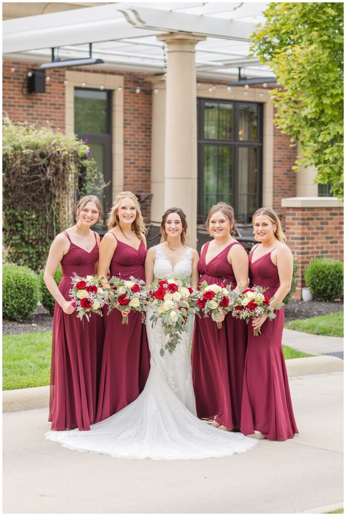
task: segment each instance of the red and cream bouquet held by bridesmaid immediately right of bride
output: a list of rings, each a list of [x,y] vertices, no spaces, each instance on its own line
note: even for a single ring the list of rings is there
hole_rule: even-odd
[[[237,302],[237,293],[232,290],[232,285],[223,286],[221,283],[208,285],[203,281],[200,285],[197,304],[205,317],[211,314],[213,321],[221,314],[227,314],[233,310]],[[222,322],[216,322],[217,328],[222,328]]]

